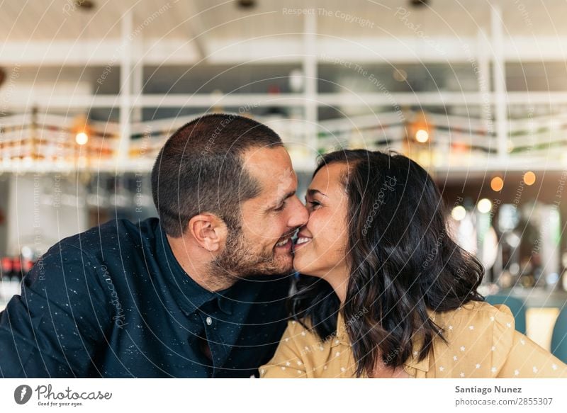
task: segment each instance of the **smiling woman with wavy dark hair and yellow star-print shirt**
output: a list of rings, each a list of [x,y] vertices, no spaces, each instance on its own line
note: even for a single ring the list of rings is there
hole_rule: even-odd
[[[302,274],[266,378],[567,377],[476,292],[483,267],[447,233],[439,191],[400,154],[322,157],[294,248]]]

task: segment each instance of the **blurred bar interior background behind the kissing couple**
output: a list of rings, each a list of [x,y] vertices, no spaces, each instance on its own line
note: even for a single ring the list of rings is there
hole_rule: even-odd
[[[2,1],[0,309],[58,240],[155,216],[164,140],[229,111],[279,132],[300,192],[334,149],[420,162],[481,293],[567,361],[565,16],[562,0]]]

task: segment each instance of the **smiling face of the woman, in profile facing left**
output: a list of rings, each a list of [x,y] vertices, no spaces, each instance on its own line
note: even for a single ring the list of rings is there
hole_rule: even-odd
[[[309,220],[299,230],[293,259],[296,271],[325,278],[339,298],[348,280],[348,198],[341,181],[346,172],[347,164],[334,163],[313,177],[306,196]]]

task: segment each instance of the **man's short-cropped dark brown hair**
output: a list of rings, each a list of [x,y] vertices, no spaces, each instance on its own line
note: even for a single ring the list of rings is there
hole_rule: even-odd
[[[204,115],[177,130],[152,169],[152,196],[164,231],[181,237],[191,217],[213,213],[229,230],[240,225],[240,203],[261,187],[243,168],[243,152],[282,146],[262,123],[240,115]]]

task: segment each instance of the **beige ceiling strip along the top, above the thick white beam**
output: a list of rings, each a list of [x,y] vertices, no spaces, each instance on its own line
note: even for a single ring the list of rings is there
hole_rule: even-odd
[[[473,36],[490,30],[488,0],[430,0],[412,9],[407,0],[257,0],[254,9],[237,9],[223,0],[94,0],[94,10],[74,8],[72,0],[4,0],[0,2],[0,38],[13,41],[101,40],[120,37],[120,18],[133,10],[133,28],[145,39],[214,40],[293,36],[303,31],[303,18],[284,9],[312,9],[320,14],[318,33],[339,38]],[[514,36],[567,35],[564,0],[503,0],[505,33]],[[398,7],[410,11],[405,21]],[[339,16],[335,16],[335,13]],[[361,27],[342,13],[368,20]],[[396,13],[398,15],[396,16]],[[327,14],[325,16],[325,14]],[[330,14],[330,16],[328,16]],[[419,28],[412,29],[420,25]]]

